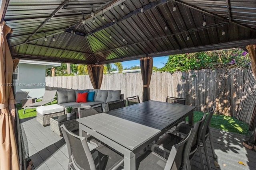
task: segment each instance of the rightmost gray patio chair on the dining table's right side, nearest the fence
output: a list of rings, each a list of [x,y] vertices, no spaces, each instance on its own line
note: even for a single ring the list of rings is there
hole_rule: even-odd
[[[214,159],[217,158],[216,154],[214,152],[214,147],[213,147],[213,143],[212,143],[212,135],[210,133],[210,122],[211,122],[214,110],[215,110],[215,107],[213,107],[212,110],[210,111],[210,113],[208,114],[206,121],[204,123],[204,126],[202,127],[202,133],[201,133],[201,137],[200,137],[200,142],[202,142],[203,146],[204,146],[204,153],[205,153],[206,162],[207,162],[207,166],[208,166],[209,170],[211,169],[211,165],[210,165],[209,154],[208,154],[207,147],[206,147],[206,140],[207,140],[208,136],[209,136],[210,145],[212,148],[213,158]],[[189,129],[191,129],[192,127],[193,127],[192,125],[182,123],[174,131],[175,131],[175,133],[180,133],[180,134],[186,135],[188,133]]]

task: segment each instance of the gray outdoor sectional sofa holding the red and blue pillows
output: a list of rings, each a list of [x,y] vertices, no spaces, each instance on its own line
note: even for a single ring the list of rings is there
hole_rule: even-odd
[[[78,93],[88,92],[94,93],[94,98],[90,98],[87,102],[76,102]],[[89,94],[88,94],[89,95]],[[57,91],[57,103],[63,107],[73,107],[72,112],[78,112],[78,107],[90,106],[93,104],[102,103],[104,112],[108,111],[106,102],[111,102],[123,99],[124,95],[121,90],[100,90],[100,89],[85,89],[85,90],[67,90]],[[65,109],[66,110],[66,109]]]

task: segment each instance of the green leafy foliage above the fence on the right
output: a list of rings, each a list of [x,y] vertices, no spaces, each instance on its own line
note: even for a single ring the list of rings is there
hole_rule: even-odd
[[[246,67],[248,53],[240,48],[170,55],[161,71],[175,72],[205,68]]]

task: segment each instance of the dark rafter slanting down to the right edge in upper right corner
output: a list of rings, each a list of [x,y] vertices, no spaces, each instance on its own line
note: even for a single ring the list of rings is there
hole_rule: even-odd
[[[187,6],[188,8],[192,8],[192,9],[194,9],[194,10],[203,12],[204,14],[208,14],[208,15],[210,15],[210,16],[214,16],[214,17],[216,17],[216,18],[218,18],[218,19],[220,19],[220,20],[228,21],[228,22],[230,22],[230,23],[234,23],[234,24],[239,25],[239,26],[241,26],[241,27],[245,27],[245,28],[251,29],[251,30],[253,30],[253,31],[256,31],[256,29],[251,28],[251,27],[248,27],[247,25],[243,25],[243,24],[238,23],[238,22],[233,21],[233,20],[230,21],[229,19],[227,19],[227,18],[225,18],[225,17],[222,17],[222,16],[219,16],[219,15],[213,14],[212,12],[208,12],[208,11],[203,10],[203,9],[201,9],[201,8],[198,8],[198,7],[196,7],[196,6],[187,4],[186,2],[183,2],[183,1],[180,1],[180,0],[175,0],[175,2],[176,2],[176,3],[179,3],[179,4],[182,4],[182,5],[184,5],[184,6]]]

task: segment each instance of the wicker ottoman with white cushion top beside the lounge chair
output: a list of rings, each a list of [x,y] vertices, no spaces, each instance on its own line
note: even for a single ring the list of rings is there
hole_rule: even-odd
[[[64,107],[58,104],[36,107],[36,120],[43,126],[50,125],[51,117],[64,114]]]

